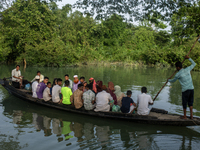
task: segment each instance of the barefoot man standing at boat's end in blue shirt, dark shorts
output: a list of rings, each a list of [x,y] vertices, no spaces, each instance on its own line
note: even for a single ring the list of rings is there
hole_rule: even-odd
[[[190,108],[190,118],[193,119],[194,86],[190,71],[195,67],[196,63],[187,55],[185,56],[185,59],[189,59],[192,65],[184,69],[182,68],[182,63],[180,61],[176,62],[175,66],[178,73],[175,75],[174,79],[168,79],[168,82],[173,83],[177,79],[179,80],[182,87],[182,105],[184,112],[184,116],[182,117],[182,119],[187,119],[187,105]]]

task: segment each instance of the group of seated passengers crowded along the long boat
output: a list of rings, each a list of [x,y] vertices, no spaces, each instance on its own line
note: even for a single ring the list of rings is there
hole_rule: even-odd
[[[12,71],[12,81],[22,83],[22,76],[19,65]],[[18,73],[17,73],[18,72]],[[108,87],[103,85],[102,81],[95,81],[94,78],[89,79],[89,83],[85,81],[85,77],[78,78],[73,76],[74,80],[69,79],[69,75],[65,75],[63,83],[61,78],[55,78],[53,84],[49,82],[48,77],[44,77],[40,71],[32,80],[32,97],[39,98],[44,101],[51,101],[58,104],[74,105],[76,109],[84,107],[86,110],[94,110],[96,112],[122,112],[148,115],[149,105],[153,104],[150,95],[147,95],[147,88],[142,87],[142,94],[138,95],[137,105],[131,98],[132,92],[127,91],[126,95],[121,92],[121,87],[114,86],[113,82],[108,82]]]

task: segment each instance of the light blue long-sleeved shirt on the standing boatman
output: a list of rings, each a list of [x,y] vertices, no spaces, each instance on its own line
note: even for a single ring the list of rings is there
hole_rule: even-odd
[[[192,90],[194,89],[193,83],[192,83],[192,77],[190,74],[190,71],[195,67],[196,63],[189,58],[189,61],[192,63],[187,68],[182,68],[179,70],[179,72],[175,75],[174,79],[169,79],[169,82],[175,82],[177,79],[179,80],[181,87],[182,87],[182,92],[185,92],[186,90]]]

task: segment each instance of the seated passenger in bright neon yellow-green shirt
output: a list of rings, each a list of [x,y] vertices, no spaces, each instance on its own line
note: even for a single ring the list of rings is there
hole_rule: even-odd
[[[72,96],[72,90],[71,88],[69,88],[69,86],[70,86],[70,81],[66,80],[65,87],[61,88],[61,94],[62,94],[61,102],[66,105],[71,104],[70,97]]]

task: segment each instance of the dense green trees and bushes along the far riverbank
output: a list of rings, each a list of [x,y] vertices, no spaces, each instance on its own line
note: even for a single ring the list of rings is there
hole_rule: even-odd
[[[200,11],[199,3],[187,9],[172,15],[168,32],[155,14],[133,25],[117,14],[95,20],[69,4],[59,9],[54,2],[16,0],[0,13],[0,61],[38,66],[102,61],[173,65],[183,60],[199,33],[200,19],[194,14]],[[199,48],[197,42],[190,54],[196,70]]]

